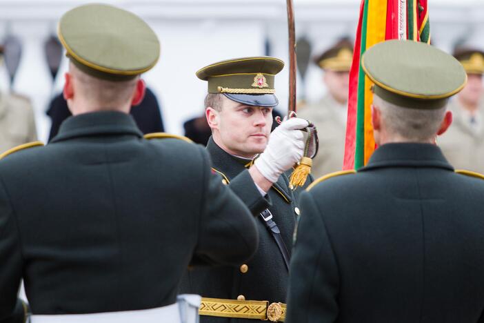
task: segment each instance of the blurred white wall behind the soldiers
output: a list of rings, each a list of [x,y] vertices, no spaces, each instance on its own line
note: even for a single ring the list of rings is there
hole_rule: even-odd
[[[88,2],[88,1],[87,1]],[[19,37],[23,56],[14,91],[32,99],[39,138],[46,141],[50,120],[46,108],[52,93],[59,92],[63,72],[52,84],[43,43],[55,31],[61,14],[86,1],[0,0],[0,41],[8,34]],[[208,63],[233,57],[264,55],[265,39],[271,55],[288,61],[287,18],[284,0],[108,0],[146,19],[161,40],[161,59],[144,75],[158,95],[165,128],[183,133],[186,119],[203,110],[206,84],[194,75]],[[484,47],[483,0],[430,0],[430,21],[434,45],[450,51],[456,41]],[[313,55],[341,36],[354,36],[360,0],[294,0],[296,34],[312,42]],[[65,61],[63,70],[65,70]],[[288,96],[288,68],[276,79],[285,110]],[[299,86],[302,86],[299,84]],[[0,89],[8,88],[4,67],[0,67]],[[321,97],[321,71],[307,72],[307,99]]]

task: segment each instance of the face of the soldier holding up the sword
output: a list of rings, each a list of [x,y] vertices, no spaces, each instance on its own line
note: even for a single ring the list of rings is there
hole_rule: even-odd
[[[213,135],[223,150],[246,158],[264,151],[272,126],[272,108],[247,106],[223,96],[222,109],[216,115]]]

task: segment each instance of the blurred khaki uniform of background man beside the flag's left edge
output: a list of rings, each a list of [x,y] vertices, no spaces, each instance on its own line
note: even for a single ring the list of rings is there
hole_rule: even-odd
[[[311,120],[318,129],[319,151],[312,159],[311,168],[314,178],[343,168],[346,116],[347,107],[339,104],[330,94],[298,111],[298,117]]]

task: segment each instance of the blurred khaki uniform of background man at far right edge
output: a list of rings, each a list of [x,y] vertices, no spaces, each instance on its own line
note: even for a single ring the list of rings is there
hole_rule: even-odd
[[[484,102],[474,124],[457,99],[450,101],[449,109],[454,116],[452,125],[438,137],[437,145],[454,168],[484,173]]]

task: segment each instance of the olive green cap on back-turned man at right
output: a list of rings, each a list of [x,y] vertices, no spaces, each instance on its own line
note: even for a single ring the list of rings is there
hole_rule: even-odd
[[[365,52],[361,66],[376,95],[406,108],[442,108],[467,82],[452,55],[418,41],[378,43]]]

